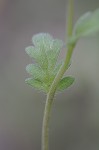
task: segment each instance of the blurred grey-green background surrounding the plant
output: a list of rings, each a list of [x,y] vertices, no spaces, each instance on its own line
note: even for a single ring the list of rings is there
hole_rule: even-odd
[[[0,150],[40,150],[46,95],[25,84],[25,47],[39,32],[65,41],[67,0],[0,0]],[[75,0],[75,18],[99,0]],[[64,56],[64,50],[61,57]],[[50,150],[99,149],[99,34],[81,39],[67,74],[75,84],[56,95]]]

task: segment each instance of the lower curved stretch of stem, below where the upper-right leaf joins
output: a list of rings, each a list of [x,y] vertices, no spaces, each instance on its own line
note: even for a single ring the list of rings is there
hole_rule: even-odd
[[[58,72],[57,76],[55,77],[55,80],[50,88],[50,91],[47,95],[47,99],[46,99],[46,104],[45,104],[45,110],[44,110],[44,118],[43,118],[43,126],[42,126],[42,150],[49,150],[49,136],[48,136],[48,131],[49,131],[49,119],[50,119],[50,111],[51,111],[51,107],[52,107],[52,103],[53,103],[53,98],[55,95],[55,91],[57,88],[57,85],[60,81],[60,79],[62,78],[63,74],[65,73],[65,71],[68,68],[72,53],[73,53],[73,49],[74,46],[71,46],[68,49],[68,53],[66,56],[66,60],[63,64],[63,66],[61,67],[60,71]]]

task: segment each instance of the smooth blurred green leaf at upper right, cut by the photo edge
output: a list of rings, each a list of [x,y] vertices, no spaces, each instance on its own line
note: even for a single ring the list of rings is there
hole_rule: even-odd
[[[87,12],[76,22],[73,30],[73,36],[89,36],[99,31],[99,9],[94,12]]]

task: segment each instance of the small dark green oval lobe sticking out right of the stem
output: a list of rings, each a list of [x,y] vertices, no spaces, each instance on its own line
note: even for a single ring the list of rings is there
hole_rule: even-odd
[[[67,89],[69,86],[71,86],[74,82],[73,77],[64,77],[63,79],[60,80],[57,90],[58,91],[63,91]]]

